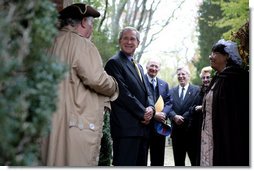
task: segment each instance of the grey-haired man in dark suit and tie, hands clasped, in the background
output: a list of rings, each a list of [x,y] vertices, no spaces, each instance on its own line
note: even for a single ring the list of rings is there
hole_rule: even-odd
[[[177,69],[177,79],[179,85],[170,89],[169,94],[172,98],[172,110],[169,117],[172,122],[172,145],[174,161],[176,166],[185,166],[186,153],[195,165],[195,152],[193,151],[193,138],[190,131],[191,115],[189,108],[193,106],[194,99],[199,94],[199,87],[189,83],[190,71],[187,67]]]

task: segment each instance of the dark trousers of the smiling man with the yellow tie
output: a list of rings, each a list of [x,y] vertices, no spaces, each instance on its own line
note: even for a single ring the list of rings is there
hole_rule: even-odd
[[[113,138],[114,166],[147,166],[148,138]]]

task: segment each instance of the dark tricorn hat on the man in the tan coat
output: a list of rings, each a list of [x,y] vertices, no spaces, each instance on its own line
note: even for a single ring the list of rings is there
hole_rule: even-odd
[[[97,18],[100,16],[100,13],[93,7],[82,3],[72,4],[61,10],[59,14],[60,19],[72,18],[79,20],[82,20],[84,17]]]

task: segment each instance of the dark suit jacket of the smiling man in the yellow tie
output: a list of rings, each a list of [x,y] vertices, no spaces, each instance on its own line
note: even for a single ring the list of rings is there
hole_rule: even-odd
[[[139,69],[144,80],[144,72],[140,65]],[[119,96],[111,102],[112,137],[148,135],[148,126],[141,121],[146,107],[154,107],[154,103],[146,83],[140,80],[133,63],[120,51],[109,59],[105,70],[116,79],[119,86]]]

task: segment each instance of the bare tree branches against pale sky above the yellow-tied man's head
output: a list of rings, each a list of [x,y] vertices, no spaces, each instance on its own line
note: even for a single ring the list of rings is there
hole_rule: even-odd
[[[110,3],[109,3],[110,2]],[[162,0],[106,0],[110,7],[107,7],[105,11],[111,15],[111,20],[106,23],[103,20],[100,23],[99,28],[110,28],[111,40],[117,40],[117,35],[121,27],[130,25],[136,27],[144,36],[141,40],[140,49],[137,51],[135,58],[140,61],[144,51],[155,41],[159,34],[166,28],[170,21],[175,17],[176,11],[181,8],[185,0],[181,0],[177,7],[169,14],[164,21],[155,20],[154,15],[158,11],[158,7]],[[149,3],[149,4],[148,4]],[[108,10],[110,8],[110,10]],[[104,16],[106,17],[105,13]],[[106,17],[107,18],[107,17]],[[153,29],[156,26],[157,30]]]

